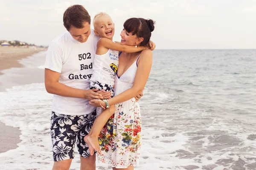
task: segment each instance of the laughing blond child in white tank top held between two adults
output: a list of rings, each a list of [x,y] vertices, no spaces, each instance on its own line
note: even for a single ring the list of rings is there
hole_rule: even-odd
[[[101,39],[97,43],[96,55],[93,64],[93,75],[90,78],[90,89],[98,88],[99,90],[104,89],[105,91],[110,91],[111,96],[113,97],[113,86],[114,86],[114,77],[118,67],[119,54],[118,51],[124,52],[138,52],[143,49],[149,48],[148,46],[137,46],[137,45],[120,45],[118,42],[113,42],[114,35],[114,23],[111,20],[111,17],[105,13],[96,14],[93,19],[94,32],[96,35],[100,36]],[[134,94],[135,96],[135,94]],[[98,107],[96,110],[97,116],[102,112],[102,108]],[[110,107],[108,107],[110,108]],[[114,107],[112,107],[114,109]],[[114,110],[112,111],[113,114]],[[108,116],[109,118],[110,116]],[[107,121],[107,120],[106,120]],[[105,122],[106,122],[105,121]],[[92,129],[90,130],[91,133]],[[90,134],[89,133],[89,134]],[[90,135],[89,135],[90,136]],[[99,136],[99,133],[98,133]],[[96,151],[99,150],[99,144],[97,146],[91,146],[90,139],[84,137],[84,141],[90,147],[90,154],[93,155],[92,147]],[[96,139],[98,143],[98,139]],[[95,142],[94,142],[95,143]]]

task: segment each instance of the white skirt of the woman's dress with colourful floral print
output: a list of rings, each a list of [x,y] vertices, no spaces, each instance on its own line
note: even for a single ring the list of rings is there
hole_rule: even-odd
[[[102,163],[126,168],[139,165],[141,147],[140,106],[135,99],[116,104],[116,112],[110,117],[99,135]]]

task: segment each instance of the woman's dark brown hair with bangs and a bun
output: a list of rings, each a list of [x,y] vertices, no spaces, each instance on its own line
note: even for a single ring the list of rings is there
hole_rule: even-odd
[[[144,18],[130,18],[125,21],[124,28],[128,33],[132,35],[137,35],[137,37],[143,37],[143,42],[140,42],[141,46],[148,44],[151,32],[154,31],[154,22],[153,20],[145,20]]]

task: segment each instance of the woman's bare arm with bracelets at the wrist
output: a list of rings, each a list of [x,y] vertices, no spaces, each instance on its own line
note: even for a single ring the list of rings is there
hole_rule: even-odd
[[[133,86],[121,94],[108,99],[109,105],[125,102],[129,99],[132,99],[134,96],[139,95],[141,91],[143,91],[151,70],[152,60],[153,55],[149,49],[143,50],[141,52]],[[96,107],[100,107],[97,99],[91,100],[90,104],[95,105]],[[102,101],[102,105],[105,106],[105,102]]]

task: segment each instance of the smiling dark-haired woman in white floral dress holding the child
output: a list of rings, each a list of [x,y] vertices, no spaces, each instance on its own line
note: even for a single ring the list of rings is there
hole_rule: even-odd
[[[124,23],[124,29],[120,34],[122,38],[120,44],[145,46],[153,30],[153,20],[130,18]],[[96,107],[106,108],[107,105],[115,105],[115,108],[104,111],[111,115],[115,110],[115,113],[99,135],[102,153],[99,155],[99,160],[111,164],[113,170],[133,170],[134,165],[139,164],[141,116],[140,106],[133,97],[139,95],[145,87],[151,70],[152,58],[150,50],[119,53],[119,66],[115,75],[115,96],[107,102],[97,99],[90,101],[90,104]],[[97,119],[106,119],[106,117],[101,117],[102,115],[106,114],[100,114]],[[102,127],[103,125],[97,119],[94,126]]]

